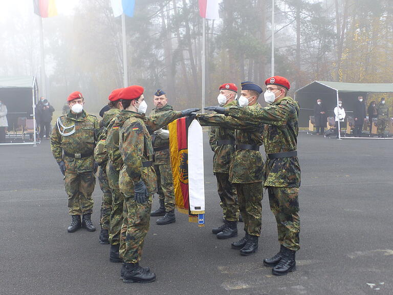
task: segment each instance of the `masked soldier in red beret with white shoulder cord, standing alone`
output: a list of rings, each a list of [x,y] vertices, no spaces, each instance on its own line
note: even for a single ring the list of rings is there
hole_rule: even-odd
[[[92,194],[96,183],[97,164],[93,153],[98,120],[96,116],[83,110],[84,99],[80,92],[71,93],[67,101],[71,110],[57,119],[51,135],[51,150],[65,178],[65,192],[72,216],[68,231],[73,233],[81,226],[95,231],[91,215],[94,204]]]

